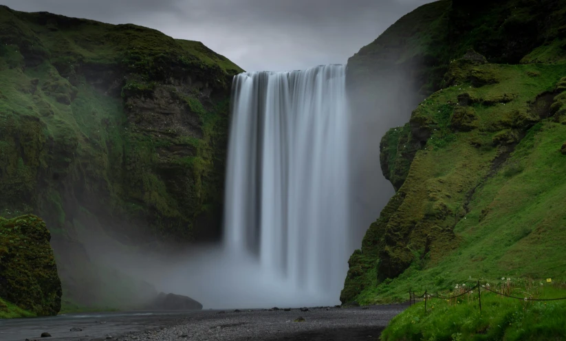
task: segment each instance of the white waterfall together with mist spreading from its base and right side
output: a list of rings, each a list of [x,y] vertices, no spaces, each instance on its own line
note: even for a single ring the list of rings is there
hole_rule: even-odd
[[[379,144],[409,120],[409,79],[346,94],[342,65],[236,76],[222,243],[164,256],[91,235],[89,255],[204,309],[339,304],[349,256],[393,195]]]

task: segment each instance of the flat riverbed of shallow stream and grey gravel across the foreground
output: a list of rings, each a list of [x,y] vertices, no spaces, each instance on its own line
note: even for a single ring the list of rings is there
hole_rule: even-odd
[[[0,340],[379,340],[406,305],[68,314],[0,320]],[[303,318],[303,322],[296,322]],[[41,338],[41,333],[51,337]]]

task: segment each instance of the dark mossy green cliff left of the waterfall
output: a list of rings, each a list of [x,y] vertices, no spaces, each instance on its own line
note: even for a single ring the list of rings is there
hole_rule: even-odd
[[[219,237],[237,65],[148,28],[5,6],[0,41],[0,215],[45,219],[67,294],[85,230],[148,252]]]

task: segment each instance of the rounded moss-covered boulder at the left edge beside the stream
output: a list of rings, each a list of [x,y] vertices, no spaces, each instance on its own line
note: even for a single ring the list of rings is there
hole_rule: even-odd
[[[39,217],[0,217],[0,298],[37,316],[61,310],[61,280],[50,239]]]

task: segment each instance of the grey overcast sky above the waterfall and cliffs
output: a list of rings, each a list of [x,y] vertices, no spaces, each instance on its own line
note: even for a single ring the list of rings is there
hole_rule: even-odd
[[[346,63],[431,0],[0,0],[14,10],[135,23],[202,41],[246,71]]]

